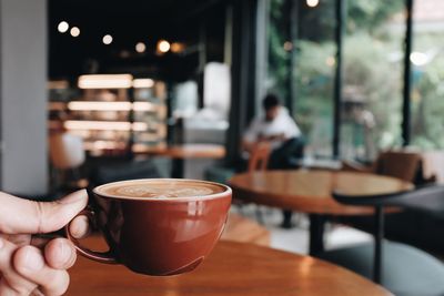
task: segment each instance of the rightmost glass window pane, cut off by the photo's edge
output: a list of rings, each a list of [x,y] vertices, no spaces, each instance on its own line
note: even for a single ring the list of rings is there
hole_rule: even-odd
[[[444,2],[416,0],[413,8],[412,144],[444,147]]]

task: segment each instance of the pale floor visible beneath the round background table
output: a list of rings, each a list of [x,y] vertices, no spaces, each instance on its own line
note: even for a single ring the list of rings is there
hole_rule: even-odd
[[[255,205],[243,207],[240,214],[256,220],[255,207]],[[238,210],[233,211],[239,213]],[[263,216],[263,226],[271,233],[271,247],[299,254],[309,253],[309,220],[306,215],[293,214],[295,226],[291,229],[284,229],[280,227],[282,222],[282,212],[280,210],[261,206],[260,211]],[[369,234],[344,225],[327,224],[325,228],[326,249],[371,242],[371,239],[372,237]]]

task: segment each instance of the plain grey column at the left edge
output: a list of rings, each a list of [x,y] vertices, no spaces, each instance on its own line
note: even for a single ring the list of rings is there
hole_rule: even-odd
[[[47,1],[0,0],[0,188],[47,193]]]

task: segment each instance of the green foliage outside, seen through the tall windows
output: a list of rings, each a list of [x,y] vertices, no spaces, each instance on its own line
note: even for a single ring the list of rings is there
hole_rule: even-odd
[[[375,125],[360,127],[346,114],[344,106],[341,126],[342,156],[365,157],[372,150],[401,145],[404,1],[347,1],[346,33],[343,52],[343,99],[353,89],[362,99],[360,105],[374,116]],[[316,154],[331,155],[333,133],[333,79],[336,47],[334,43],[334,1],[321,1],[315,9],[304,7],[302,1],[299,39],[293,40],[294,50],[283,48],[285,8],[283,0],[271,1],[270,65],[271,89],[286,95],[290,54],[294,55],[292,81],[294,118],[305,133]],[[425,52],[444,44],[444,34],[431,37],[427,32],[415,35]],[[413,95],[413,144],[421,147],[444,147],[444,58],[436,53],[433,62],[423,69],[415,68]],[[372,145],[369,147],[369,145]]]

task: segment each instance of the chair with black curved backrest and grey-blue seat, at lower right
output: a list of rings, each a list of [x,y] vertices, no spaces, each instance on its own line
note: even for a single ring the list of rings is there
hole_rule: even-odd
[[[430,185],[396,194],[367,196],[333,193],[333,197],[346,205],[375,207],[374,245],[329,251],[321,254],[321,258],[373,278],[398,296],[444,295],[444,265],[441,261],[418,248],[383,239],[385,206],[442,216],[444,186]]]

